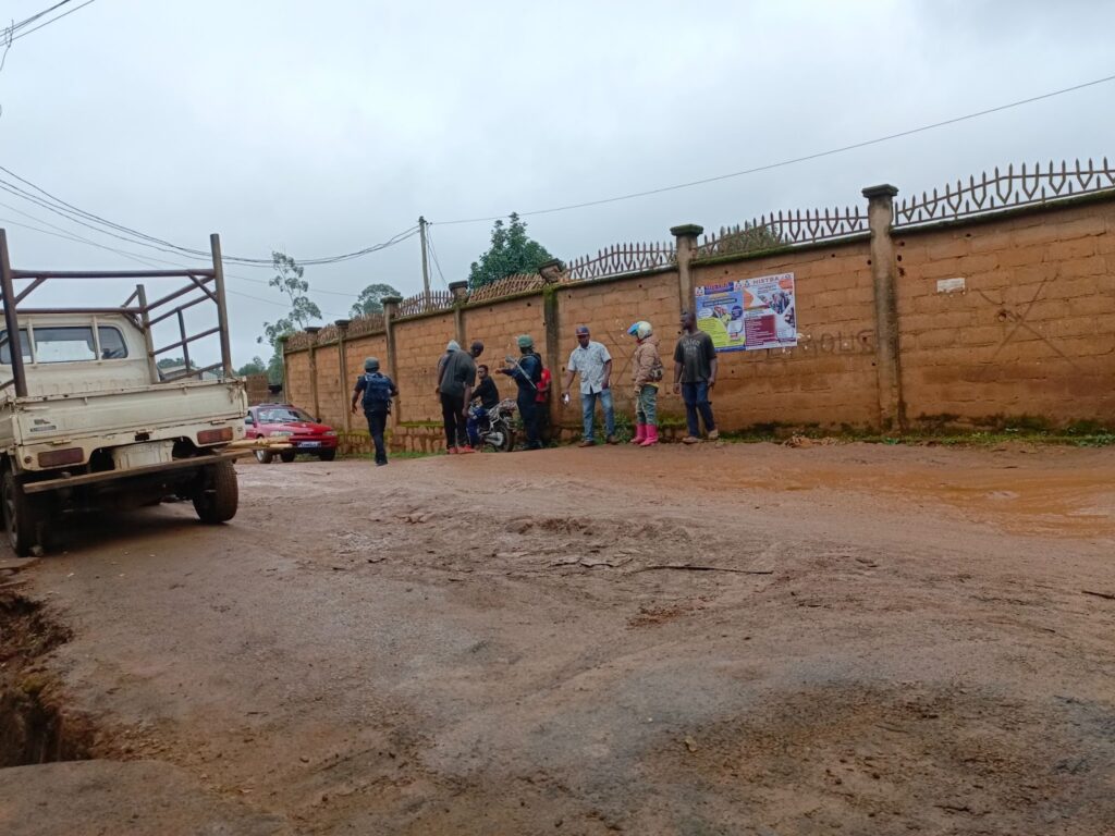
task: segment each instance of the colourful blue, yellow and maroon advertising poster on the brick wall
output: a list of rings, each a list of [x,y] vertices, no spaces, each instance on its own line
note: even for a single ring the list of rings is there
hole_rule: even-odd
[[[697,327],[717,351],[757,351],[797,344],[794,274],[760,275],[696,289]]]

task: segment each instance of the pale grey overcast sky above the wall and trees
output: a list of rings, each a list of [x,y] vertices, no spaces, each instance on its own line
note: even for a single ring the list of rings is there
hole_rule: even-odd
[[[0,0],[2,25],[56,1]],[[97,0],[12,43],[0,165],[117,223],[198,249],[220,232],[226,253],[252,257],[358,250],[424,214],[449,282],[466,278],[491,223],[438,222],[737,172],[1109,76],[1113,29],[1103,0]],[[909,194],[1011,162],[1115,156],[1112,103],[1107,82],[762,174],[527,217],[529,232],[569,260],[665,240],[679,223],[855,204],[882,182]],[[0,204],[17,268],[140,265],[16,223],[169,257],[7,193]],[[268,354],[255,337],[283,307],[261,283],[270,271],[226,270],[241,364]],[[370,282],[409,295],[421,289],[418,240],[306,278],[326,321]]]

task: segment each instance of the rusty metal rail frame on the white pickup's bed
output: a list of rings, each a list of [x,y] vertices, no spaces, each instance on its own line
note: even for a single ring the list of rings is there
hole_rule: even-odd
[[[234,375],[232,368],[232,348],[229,340],[229,311],[225,305],[224,269],[221,263],[221,236],[210,235],[210,250],[213,255],[211,268],[183,268],[181,270],[103,270],[103,271],[59,271],[59,270],[13,270],[8,255],[8,235],[0,229],[0,305],[3,307],[6,339],[11,347],[11,380],[0,383],[0,391],[10,386],[16,387],[16,397],[27,397],[27,373],[23,368],[23,351],[19,336],[19,314],[52,314],[52,313],[123,313],[130,317],[139,328],[147,342],[147,361],[151,366],[152,382],[172,382],[183,378],[201,377],[206,371],[222,369],[225,378]],[[19,293],[16,292],[17,280],[30,280],[30,284]],[[167,293],[153,302],[147,301],[147,291],[143,284],[137,284],[135,292],[118,308],[20,308],[19,304],[33,291],[50,279],[188,279],[178,290]],[[209,285],[213,285],[212,289]],[[187,297],[197,291],[193,297]],[[174,307],[171,302],[178,300]],[[211,301],[216,305],[217,324],[195,334],[186,333],[185,311],[195,304]],[[155,348],[152,328],[157,323],[177,317],[181,339],[162,348]],[[190,343],[196,340],[220,334],[221,362],[204,368],[192,368],[190,361]],[[185,369],[174,375],[161,376],[158,356],[180,349],[185,359]]]

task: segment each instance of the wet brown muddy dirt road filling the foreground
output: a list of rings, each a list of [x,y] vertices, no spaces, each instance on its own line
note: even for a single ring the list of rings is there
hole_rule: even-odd
[[[1115,450],[239,470],[0,577],[0,833],[1115,833]]]

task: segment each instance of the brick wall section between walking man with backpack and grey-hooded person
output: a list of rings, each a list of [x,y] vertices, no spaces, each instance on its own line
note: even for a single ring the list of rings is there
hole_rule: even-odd
[[[453,313],[415,317],[394,325],[396,367],[399,387],[396,420],[440,421],[442,404],[434,396],[437,387],[437,359],[449,340],[457,339]],[[386,361],[385,357],[380,358]]]

